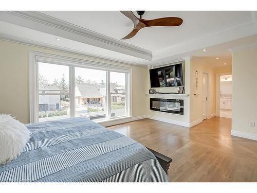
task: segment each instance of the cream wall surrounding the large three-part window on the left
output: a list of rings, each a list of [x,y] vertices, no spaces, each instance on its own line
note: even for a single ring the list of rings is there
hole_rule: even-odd
[[[145,115],[145,93],[147,90],[145,85],[148,77],[148,70],[145,66],[124,65],[118,62],[2,40],[0,40],[0,113],[12,114],[24,123],[29,122],[30,50],[132,67],[132,116]]]

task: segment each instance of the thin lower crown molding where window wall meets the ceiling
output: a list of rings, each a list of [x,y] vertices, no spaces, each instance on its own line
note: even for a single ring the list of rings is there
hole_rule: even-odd
[[[0,40],[20,43],[20,44],[25,44],[25,45],[35,46],[35,47],[41,47],[41,48],[46,48],[46,49],[53,49],[53,50],[57,50],[57,51],[66,52],[68,54],[76,54],[76,55],[89,57],[91,59],[101,59],[101,60],[104,60],[106,62],[111,62],[111,63],[133,65],[133,66],[136,66],[136,65],[147,66],[146,64],[130,63],[125,60],[119,60],[119,59],[115,59],[115,58],[111,58],[111,57],[103,57],[100,55],[90,54],[88,52],[84,52],[84,51],[80,51],[80,50],[76,50],[76,49],[71,49],[71,48],[66,48],[66,47],[62,47],[62,46],[37,42],[37,41],[33,41],[33,40],[28,40],[25,38],[14,37],[14,36],[10,36],[10,35],[3,34],[3,33],[0,33]]]

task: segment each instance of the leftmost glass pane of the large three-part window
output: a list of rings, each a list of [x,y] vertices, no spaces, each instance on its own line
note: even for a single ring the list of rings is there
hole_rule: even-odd
[[[38,63],[39,121],[68,118],[69,67]]]

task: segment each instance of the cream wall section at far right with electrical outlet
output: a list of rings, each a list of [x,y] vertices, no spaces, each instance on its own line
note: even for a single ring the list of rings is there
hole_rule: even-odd
[[[232,135],[257,140],[257,48],[233,52]],[[249,126],[255,121],[255,127]]]

